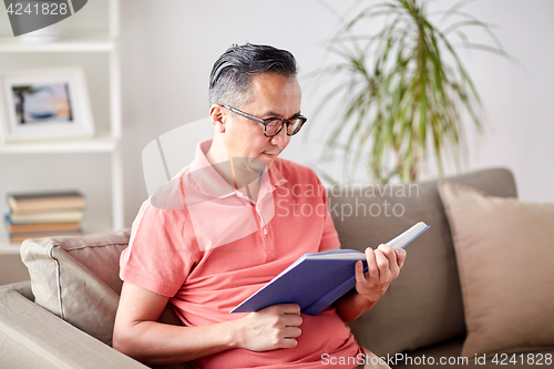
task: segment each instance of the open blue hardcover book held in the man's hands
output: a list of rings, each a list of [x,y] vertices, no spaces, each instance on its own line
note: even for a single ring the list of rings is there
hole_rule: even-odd
[[[420,222],[394,237],[387,245],[404,248],[429,226]],[[307,315],[318,315],[356,286],[356,263],[366,254],[337,249],[305,254],[267,285],[237,305],[230,312],[250,312],[275,304],[298,304]]]

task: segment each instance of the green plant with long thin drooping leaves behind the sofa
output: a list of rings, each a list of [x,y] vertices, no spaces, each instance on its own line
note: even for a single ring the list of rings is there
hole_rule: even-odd
[[[430,14],[422,0],[388,0],[342,20],[328,43],[328,51],[340,61],[315,75],[340,76],[318,111],[330,101],[342,109],[325,152],[343,151],[346,177],[351,180],[363,163],[376,182],[417,181],[431,147],[441,176],[448,155],[461,167],[468,150],[461,113],[468,112],[482,133],[482,104],[448,37],[458,37],[462,47],[507,57],[491,25],[461,10],[465,3],[440,13],[442,21],[450,20],[442,31],[431,23],[437,13]],[[384,25],[377,34],[358,33],[367,25],[363,22],[378,19]],[[470,42],[462,31],[466,27],[483,29],[495,45]]]

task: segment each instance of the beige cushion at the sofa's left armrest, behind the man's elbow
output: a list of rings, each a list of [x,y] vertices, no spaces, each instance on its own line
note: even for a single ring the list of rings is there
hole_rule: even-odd
[[[122,230],[24,240],[21,258],[34,301],[111,346],[122,287],[120,254],[129,237]]]

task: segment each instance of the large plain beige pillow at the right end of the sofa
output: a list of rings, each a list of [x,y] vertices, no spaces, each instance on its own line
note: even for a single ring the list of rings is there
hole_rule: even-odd
[[[462,355],[554,346],[554,205],[444,181],[439,193],[460,270],[468,327]]]

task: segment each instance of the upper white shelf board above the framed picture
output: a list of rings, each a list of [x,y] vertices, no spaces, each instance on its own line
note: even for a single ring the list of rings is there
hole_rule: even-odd
[[[55,42],[22,42],[13,35],[0,37],[0,52],[110,52],[115,41],[107,32],[61,35]]]

